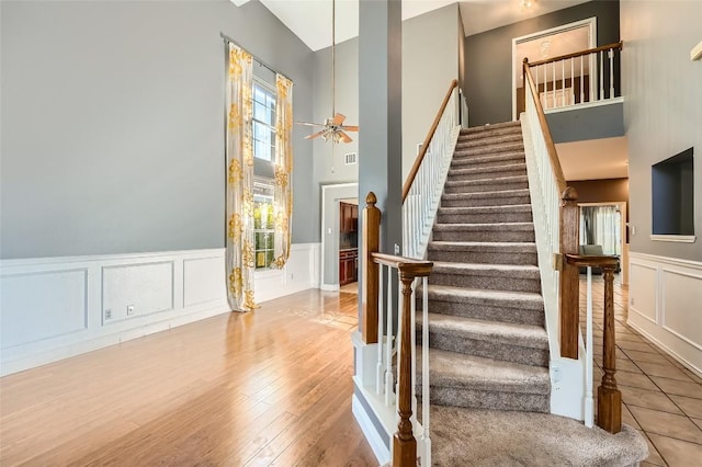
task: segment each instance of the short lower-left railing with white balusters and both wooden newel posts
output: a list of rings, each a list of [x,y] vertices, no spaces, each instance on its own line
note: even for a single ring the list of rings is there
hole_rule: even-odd
[[[429,435],[429,403],[422,405],[421,422],[417,420],[417,343],[416,291],[422,283],[422,355],[421,397],[429,400],[429,287],[428,277],[433,263],[378,252],[381,212],[373,192],[369,193],[363,209],[363,334],[373,333],[377,343],[375,365],[375,398],[371,403],[380,420],[396,424],[386,426],[393,434],[392,465],[395,467],[431,466],[431,437]],[[394,301],[393,286],[400,288]],[[385,294],[383,294],[385,289]],[[385,296],[385,300],[384,300]],[[394,324],[397,305],[397,329]],[[370,312],[369,312],[370,311]],[[369,341],[365,341],[369,343]],[[393,362],[396,362],[394,367]],[[395,372],[395,373],[394,373]],[[395,386],[397,381],[397,386]],[[419,442],[418,442],[419,438]]]

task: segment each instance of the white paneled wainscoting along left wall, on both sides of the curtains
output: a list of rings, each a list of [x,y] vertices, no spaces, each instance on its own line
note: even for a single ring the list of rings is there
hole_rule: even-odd
[[[257,301],[318,287],[319,247],[257,273]],[[0,375],[229,312],[224,249],[2,260],[0,297]]]

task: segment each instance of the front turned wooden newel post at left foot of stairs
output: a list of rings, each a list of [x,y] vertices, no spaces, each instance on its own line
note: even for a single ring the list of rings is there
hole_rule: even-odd
[[[397,433],[393,436],[393,467],[414,467],[417,465],[417,440],[412,434],[412,423],[409,419],[412,415],[411,342],[414,335],[411,335],[411,299],[415,276],[405,274],[400,267],[399,280],[403,283],[403,319],[399,326],[401,342],[398,356],[399,401],[397,413],[399,413],[399,422],[397,423]]]

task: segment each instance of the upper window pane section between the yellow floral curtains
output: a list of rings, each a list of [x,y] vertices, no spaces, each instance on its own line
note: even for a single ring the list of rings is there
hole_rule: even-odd
[[[253,157],[275,162],[275,91],[253,80]]]

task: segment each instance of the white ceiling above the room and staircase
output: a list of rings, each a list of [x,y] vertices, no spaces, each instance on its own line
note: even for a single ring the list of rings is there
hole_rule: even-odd
[[[230,0],[237,7],[249,0]],[[260,0],[297,37],[313,50],[331,45],[331,0]],[[359,0],[336,0],[336,42],[359,35]],[[451,3],[458,3],[465,35],[517,23],[589,0],[401,0],[403,20],[419,16]]]

